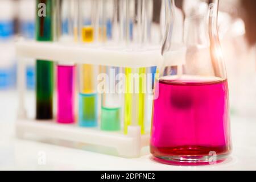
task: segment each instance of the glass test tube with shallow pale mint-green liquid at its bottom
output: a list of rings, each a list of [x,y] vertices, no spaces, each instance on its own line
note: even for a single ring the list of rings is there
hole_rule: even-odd
[[[113,43],[117,39],[112,33],[113,28],[117,28],[117,1],[101,0],[100,1],[100,28],[104,30],[106,27],[106,44]],[[114,25],[114,26],[113,26]],[[101,102],[101,130],[118,131],[121,129],[121,94],[117,93],[115,86],[117,85],[116,76],[120,72],[118,67],[105,67],[104,73],[108,76],[108,89],[102,94]]]

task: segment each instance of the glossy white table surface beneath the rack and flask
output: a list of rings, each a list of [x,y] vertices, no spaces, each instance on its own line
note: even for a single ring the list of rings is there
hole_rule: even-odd
[[[151,155],[125,159],[15,137],[17,96],[0,92],[0,170],[256,170],[256,119],[231,117],[233,152],[212,166],[170,166],[151,159]],[[46,154],[40,165],[39,152]]]

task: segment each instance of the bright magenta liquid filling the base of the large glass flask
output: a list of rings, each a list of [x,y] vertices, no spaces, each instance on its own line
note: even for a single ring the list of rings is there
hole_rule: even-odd
[[[159,80],[154,101],[151,154],[170,164],[207,164],[230,152],[228,83],[217,77]]]

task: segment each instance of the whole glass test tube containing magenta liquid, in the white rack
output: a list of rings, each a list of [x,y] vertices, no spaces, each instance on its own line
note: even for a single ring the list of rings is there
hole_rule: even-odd
[[[75,7],[78,1],[60,1],[60,42],[74,41]],[[75,122],[76,65],[57,64],[57,122]]]

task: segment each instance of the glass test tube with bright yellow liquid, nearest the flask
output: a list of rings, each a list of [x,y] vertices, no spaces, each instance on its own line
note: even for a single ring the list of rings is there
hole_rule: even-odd
[[[122,15],[125,20],[125,42],[127,46],[138,47],[143,41],[143,1],[137,2],[126,0],[125,6],[121,5]],[[135,7],[137,7],[137,13],[135,13]],[[134,76],[138,74],[139,80],[137,85],[131,85],[135,80]],[[141,133],[144,133],[144,97],[143,86],[145,85],[146,68],[125,68],[126,75],[126,90],[125,90],[125,122],[124,133],[127,134],[129,125],[141,126]],[[136,78],[135,78],[136,79]],[[137,83],[135,81],[135,83]],[[135,93],[135,89],[138,87],[138,93]],[[132,92],[131,92],[132,91]]]

